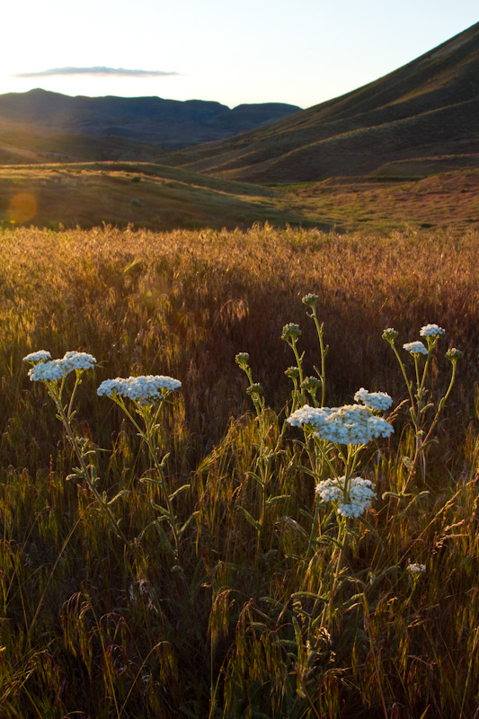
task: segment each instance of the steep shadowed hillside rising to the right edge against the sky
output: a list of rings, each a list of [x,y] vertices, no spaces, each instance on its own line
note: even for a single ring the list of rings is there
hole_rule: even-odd
[[[166,162],[246,182],[307,182],[466,153],[479,154],[479,23],[359,90]]]

